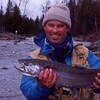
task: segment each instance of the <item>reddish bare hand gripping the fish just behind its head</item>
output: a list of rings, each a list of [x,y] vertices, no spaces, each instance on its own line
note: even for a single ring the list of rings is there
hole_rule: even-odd
[[[39,73],[38,79],[43,86],[51,88],[56,82],[57,75],[51,68],[46,68]]]

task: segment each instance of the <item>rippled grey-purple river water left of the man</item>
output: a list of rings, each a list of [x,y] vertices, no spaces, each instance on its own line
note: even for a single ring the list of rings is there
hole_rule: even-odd
[[[26,100],[19,89],[21,73],[14,65],[35,48],[32,38],[18,43],[0,40],[0,100]]]

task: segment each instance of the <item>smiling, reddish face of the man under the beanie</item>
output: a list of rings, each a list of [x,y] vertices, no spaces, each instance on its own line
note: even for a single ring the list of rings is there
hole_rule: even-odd
[[[44,30],[46,37],[50,42],[54,44],[61,44],[66,39],[69,29],[66,24],[60,21],[52,20],[45,24]]]

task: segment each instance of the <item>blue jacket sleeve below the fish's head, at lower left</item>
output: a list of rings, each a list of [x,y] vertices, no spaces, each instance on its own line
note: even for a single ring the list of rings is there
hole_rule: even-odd
[[[36,78],[22,76],[20,89],[28,100],[45,100],[48,95],[52,94],[52,88],[41,86]]]

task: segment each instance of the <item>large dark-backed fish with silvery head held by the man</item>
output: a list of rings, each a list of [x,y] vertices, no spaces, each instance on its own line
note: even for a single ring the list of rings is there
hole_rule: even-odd
[[[57,86],[66,87],[92,87],[95,76],[100,72],[100,68],[86,69],[82,65],[72,67],[58,62],[50,62],[39,59],[19,59],[19,66],[15,66],[24,75],[38,77],[44,68],[52,68],[57,73]]]

